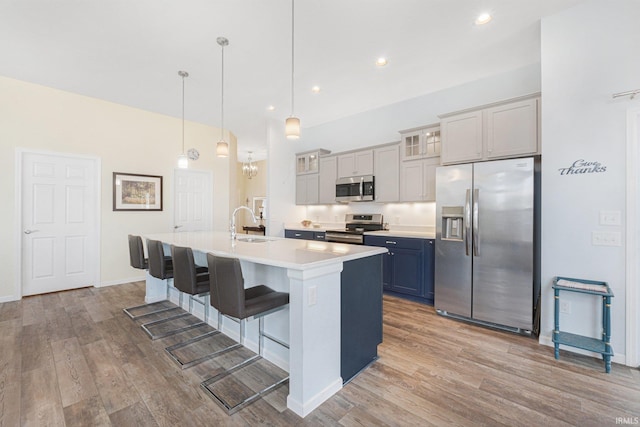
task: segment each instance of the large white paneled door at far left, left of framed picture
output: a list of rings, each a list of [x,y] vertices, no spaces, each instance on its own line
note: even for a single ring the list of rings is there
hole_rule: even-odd
[[[98,160],[22,156],[22,295],[96,284]]]

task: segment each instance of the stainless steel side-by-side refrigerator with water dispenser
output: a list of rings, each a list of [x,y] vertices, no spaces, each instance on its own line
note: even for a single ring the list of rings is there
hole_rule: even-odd
[[[438,313],[537,333],[539,160],[497,160],[436,171]]]

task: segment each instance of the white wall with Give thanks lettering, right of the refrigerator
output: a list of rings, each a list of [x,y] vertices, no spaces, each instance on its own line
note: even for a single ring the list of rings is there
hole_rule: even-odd
[[[541,342],[553,329],[554,276],[609,283],[615,293],[612,344],[625,352],[625,250],[593,246],[593,231],[625,236],[626,111],[639,100],[612,94],[640,87],[640,2],[590,0],[542,22],[542,324]],[[561,175],[584,159],[606,172]],[[622,226],[599,223],[602,210],[619,211]],[[600,334],[595,298],[563,295],[571,314],[562,329]]]

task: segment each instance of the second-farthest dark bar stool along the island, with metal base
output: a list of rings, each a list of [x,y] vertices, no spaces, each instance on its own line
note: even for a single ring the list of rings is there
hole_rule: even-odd
[[[147,253],[149,262],[149,274],[156,279],[167,281],[167,299],[169,299],[169,279],[173,279],[174,269],[173,260],[170,256],[165,256],[164,247],[159,240],[147,239]],[[182,293],[180,293],[180,308],[182,308]],[[171,315],[164,319],[155,320],[153,322],[145,323],[142,325],[142,329],[155,340],[158,338],[164,338],[169,335],[177,334],[185,330],[185,326],[181,325],[175,329],[163,330],[166,322],[178,320],[190,316],[189,313],[179,310],[179,314]],[[159,329],[161,332],[154,332]],[[188,328],[187,328],[188,329]]]

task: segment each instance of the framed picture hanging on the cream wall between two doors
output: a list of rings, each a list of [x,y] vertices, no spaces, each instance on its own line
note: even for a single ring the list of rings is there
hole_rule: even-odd
[[[162,177],[113,173],[114,211],[161,211]]]

